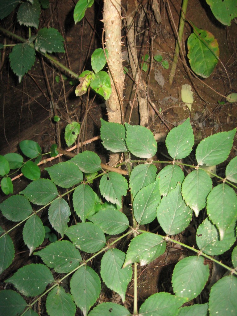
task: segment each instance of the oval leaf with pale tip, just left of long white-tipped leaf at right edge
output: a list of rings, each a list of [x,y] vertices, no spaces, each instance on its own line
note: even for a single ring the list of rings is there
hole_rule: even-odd
[[[182,184],[182,195],[186,204],[198,216],[199,211],[206,206],[206,197],[212,189],[212,181],[204,170],[193,170]]]

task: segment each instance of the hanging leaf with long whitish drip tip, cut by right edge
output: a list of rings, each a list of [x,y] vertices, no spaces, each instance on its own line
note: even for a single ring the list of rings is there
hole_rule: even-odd
[[[227,184],[215,186],[207,197],[207,214],[216,225],[222,240],[225,231],[237,219],[237,197]]]

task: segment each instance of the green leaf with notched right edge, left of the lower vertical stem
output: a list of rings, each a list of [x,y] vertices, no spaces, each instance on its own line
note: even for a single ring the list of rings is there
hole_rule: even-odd
[[[101,259],[100,275],[108,288],[117,292],[125,302],[128,283],[132,278],[132,267],[123,268],[125,253],[119,249],[109,249]]]

